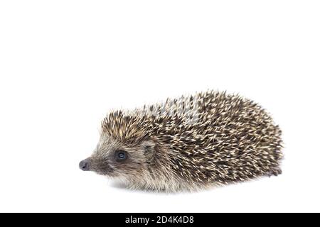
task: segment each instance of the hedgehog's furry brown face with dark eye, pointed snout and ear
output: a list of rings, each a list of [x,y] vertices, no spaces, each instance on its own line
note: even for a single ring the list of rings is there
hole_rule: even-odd
[[[144,140],[126,145],[110,136],[102,135],[94,153],[79,164],[81,170],[94,171],[109,177],[125,179],[144,177],[153,156],[154,143]]]

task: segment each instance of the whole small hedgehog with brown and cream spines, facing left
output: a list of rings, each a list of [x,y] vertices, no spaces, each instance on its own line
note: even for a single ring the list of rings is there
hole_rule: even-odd
[[[255,102],[204,92],[132,111],[112,111],[81,170],[132,189],[195,191],[279,175],[279,126]]]

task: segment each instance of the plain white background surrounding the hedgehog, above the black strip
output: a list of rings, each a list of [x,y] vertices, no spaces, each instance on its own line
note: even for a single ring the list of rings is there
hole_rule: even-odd
[[[320,211],[319,1],[0,1],[0,211]],[[78,162],[110,109],[207,89],[272,113],[283,174],[119,188]]]

